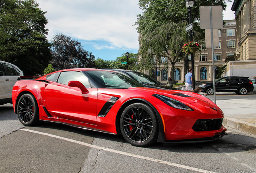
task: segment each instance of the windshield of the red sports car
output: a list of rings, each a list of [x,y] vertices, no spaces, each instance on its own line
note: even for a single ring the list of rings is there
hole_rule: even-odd
[[[118,72],[103,70],[84,71],[100,88],[128,89],[130,87],[144,87],[139,82]]]

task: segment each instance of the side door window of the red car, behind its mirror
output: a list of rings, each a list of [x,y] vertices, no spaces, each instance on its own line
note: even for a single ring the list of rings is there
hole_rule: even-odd
[[[86,88],[91,88],[88,78],[84,76],[81,72],[77,71],[61,72],[58,83],[68,85],[68,82],[70,80],[77,80],[81,82]]]

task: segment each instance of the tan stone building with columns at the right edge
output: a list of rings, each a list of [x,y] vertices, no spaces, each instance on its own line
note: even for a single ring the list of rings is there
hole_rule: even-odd
[[[235,57],[226,59],[224,75],[256,76],[256,0],[234,0],[231,10],[235,12]]]

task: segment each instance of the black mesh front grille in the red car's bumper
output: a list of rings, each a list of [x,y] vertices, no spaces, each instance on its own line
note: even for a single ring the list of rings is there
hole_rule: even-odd
[[[194,131],[219,130],[222,127],[223,119],[198,119],[193,126]]]

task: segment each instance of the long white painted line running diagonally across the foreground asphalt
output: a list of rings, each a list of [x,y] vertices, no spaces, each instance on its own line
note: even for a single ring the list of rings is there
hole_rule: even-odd
[[[170,166],[174,166],[174,167],[180,167],[180,168],[183,168],[183,169],[189,169],[189,170],[197,171],[197,172],[201,172],[201,173],[215,173],[213,171],[207,171],[207,170],[204,170],[204,169],[198,169],[198,168],[194,168],[194,167],[190,167],[190,166],[186,166],[186,165],[180,165],[180,164],[177,164],[177,163],[162,161],[162,160],[154,159],[154,158],[151,158],[151,157],[144,157],[144,156],[141,156],[141,155],[127,153],[127,152],[124,152],[124,151],[118,151],[118,150],[114,150],[114,149],[108,149],[108,148],[105,148],[105,147],[100,147],[100,146],[97,146],[97,145],[91,145],[89,143],[84,143],[84,142],[81,142],[81,141],[76,141],[76,140],[73,140],[73,139],[68,139],[68,138],[65,138],[65,137],[60,137],[60,136],[52,135],[52,134],[49,134],[49,133],[43,133],[43,132],[33,131],[33,130],[29,130],[29,129],[21,129],[21,130],[31,132],[31,133],[37,133],[37,134],[45,135],[45,136],[49,136],[49,137],[54,137],[54,138],[57,138],[57,139],[62,139],[64,141],[69,141],[69,142],[72,142],[72,143],[84,145],[84,146],[99,149],[99,150],[109,151],[109,152],[112,152],[112,153],[117,153],[117,154],[126,155],[126,156],[130,156],[130,157],[136,157],[136,158],[139,158],[139,159],[145,159],[145,160],[148,160],[148,161],[162,163],[162,164],[170,165]]]

